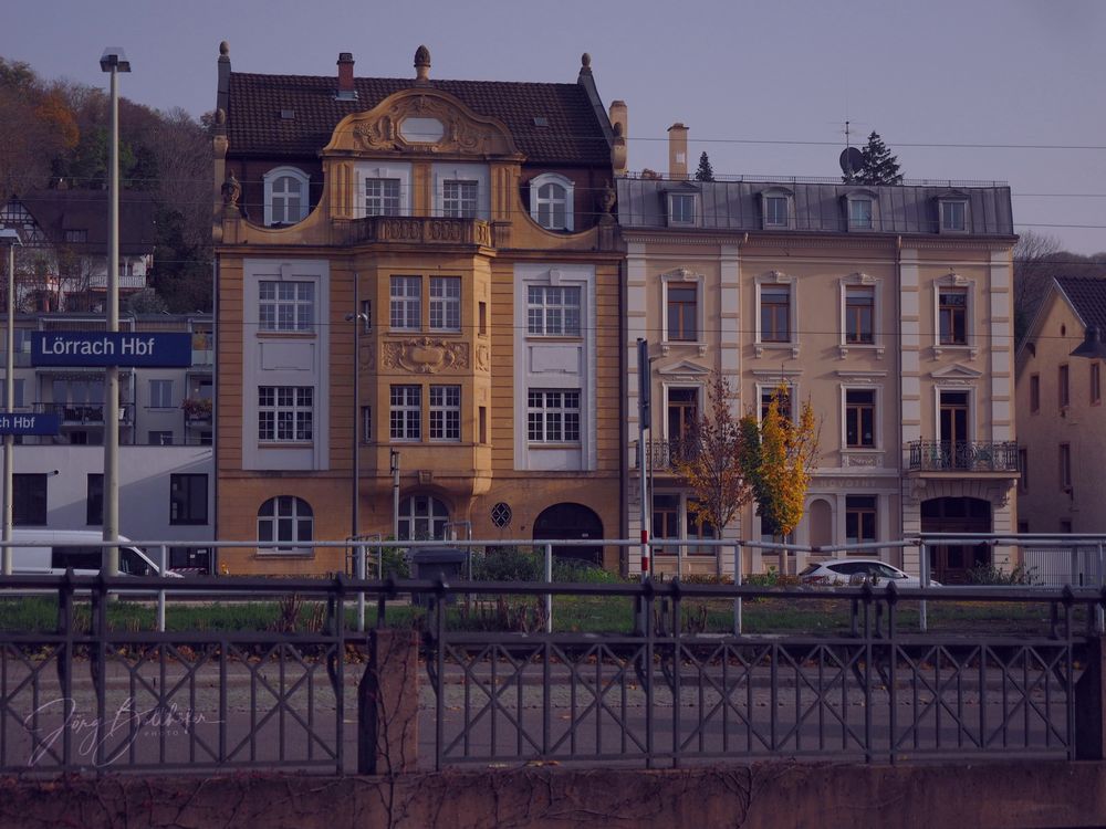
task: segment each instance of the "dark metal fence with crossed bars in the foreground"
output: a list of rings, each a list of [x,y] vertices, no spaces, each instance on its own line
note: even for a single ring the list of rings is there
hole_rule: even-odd
[[[188,579],[179,591],[210,596],[213,585],[228,601],[230,591],[316,601],[319,630],[115,630],[109,591],[154,591],[158,579],[0,578],[0,599],[13,590],[58,596],[56,630],[0,632],[0,772],[356,770],[349,745],[366,724],[352,715],[358,710],[351,695],[363,649],[349,646],[365,639],[348,627],[361,592],[372,598],[377,626],[396,621],[399,608],[410,623],[411,597],[428,600],[418,613],[428,680],[419,697],[424,767],[1071,759],[1077,706],[1102,709],[1100,679],[1079,682],[1094,610],[1104,601],[1086,589],[448,585],[338,576],[275,585]],[[547,596],[595,608],[625,602],[634,611],[618,631],[471,623],[474,608],[538,606]],[[1032,604],[1044,621],[1016,636],[970,626],[908,632],[900,617],[922,596],[930,607]],[[735,636],[721,632],[724,622],[717,632],[689,622],[693,610],[726,613],[739,600],[817,602],[825,612],[839,608],[851,623],[836,634]]]

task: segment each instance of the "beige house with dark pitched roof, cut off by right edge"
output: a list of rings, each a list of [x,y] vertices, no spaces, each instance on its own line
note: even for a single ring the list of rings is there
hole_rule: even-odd
[[[1104,330],[1106,280],[1057,276],[1018,349],[1020,532],[1106,532]]]

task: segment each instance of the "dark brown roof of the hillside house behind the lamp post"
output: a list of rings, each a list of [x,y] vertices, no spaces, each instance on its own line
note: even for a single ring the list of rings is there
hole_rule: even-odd
[[[65,243],[66,231],[83,230],[83,250],[107,254],[107,190],[31,190],[19,201],[52,243]],[[119,253],[152,253],[154,242],[153,193],[121,190]]]

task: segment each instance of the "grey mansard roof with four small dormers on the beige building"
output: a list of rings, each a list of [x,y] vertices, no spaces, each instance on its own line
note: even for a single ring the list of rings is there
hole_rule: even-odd
[[[873,227],[866,233],[939,232],[939,201],[966,201],[967,232],[953,235],[1012,237],[1010,188],[845,183],[806,183],[791,181],[670,181],[666,179],[622,178],[618,180],[618,222],[627,229],[666,228],[667,193],[698,192],[695,224],[680,230],[754,231],[776,233],[842,233],[848,231],[847,198],[870,198],[874,202]],[[773,191],[791,198],[791,223],[787,228],[764,228],[762,193]]]

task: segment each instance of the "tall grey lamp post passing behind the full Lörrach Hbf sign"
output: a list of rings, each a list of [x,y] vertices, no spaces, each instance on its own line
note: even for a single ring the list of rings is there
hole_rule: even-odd
[[[107,330],[119,329],[119,80],[131,62],[117,46],[100,57],[100,69],[112,76],[107,192]],[[106,546],[119,538],[119,367],[108,366],[104,377],[104,573],[119,575],[119,548]]]

